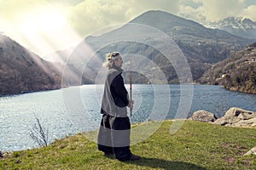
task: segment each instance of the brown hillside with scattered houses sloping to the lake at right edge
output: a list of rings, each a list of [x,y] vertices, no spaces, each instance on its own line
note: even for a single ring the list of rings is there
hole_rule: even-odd
[[[256,42],[214,65],[200,82],[256,94]]]

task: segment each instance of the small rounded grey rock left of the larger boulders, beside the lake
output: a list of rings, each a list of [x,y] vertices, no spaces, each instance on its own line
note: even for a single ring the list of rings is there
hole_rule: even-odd
[[[216,117],[209,111],[195,111],[193,116],[191,117],[193,121],[200,121],[200,122],[214,122]]]

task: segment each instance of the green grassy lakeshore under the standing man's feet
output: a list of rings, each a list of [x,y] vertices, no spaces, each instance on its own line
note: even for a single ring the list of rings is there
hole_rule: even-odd
[[[171,135],[171,124],[163,122],[148,139],[131,145],[140,161],[103,156],[79,133],[44,148],[5,154],[0,169],[256,169],[256,156],[243,156],[256,146],[256,129],[188,120]]]

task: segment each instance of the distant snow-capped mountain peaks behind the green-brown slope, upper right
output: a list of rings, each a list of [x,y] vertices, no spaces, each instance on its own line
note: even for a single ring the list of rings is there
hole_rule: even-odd
[[[240,37],[256,38],[256,22],[242,17],[228,17],[224,20],[213,21],[207,27],[228,31]]]

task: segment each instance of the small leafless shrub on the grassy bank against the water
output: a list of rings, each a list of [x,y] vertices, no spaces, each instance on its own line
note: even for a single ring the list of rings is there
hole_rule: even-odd
[[[44,128],[38,119],[38,117],[35,117],[37,120],[37,123],[34,124],[32,127],[32,130],[30,132],[30,137],[32,140],[39,144],[39,146],[47,146],[48,145],[48,128]]]

